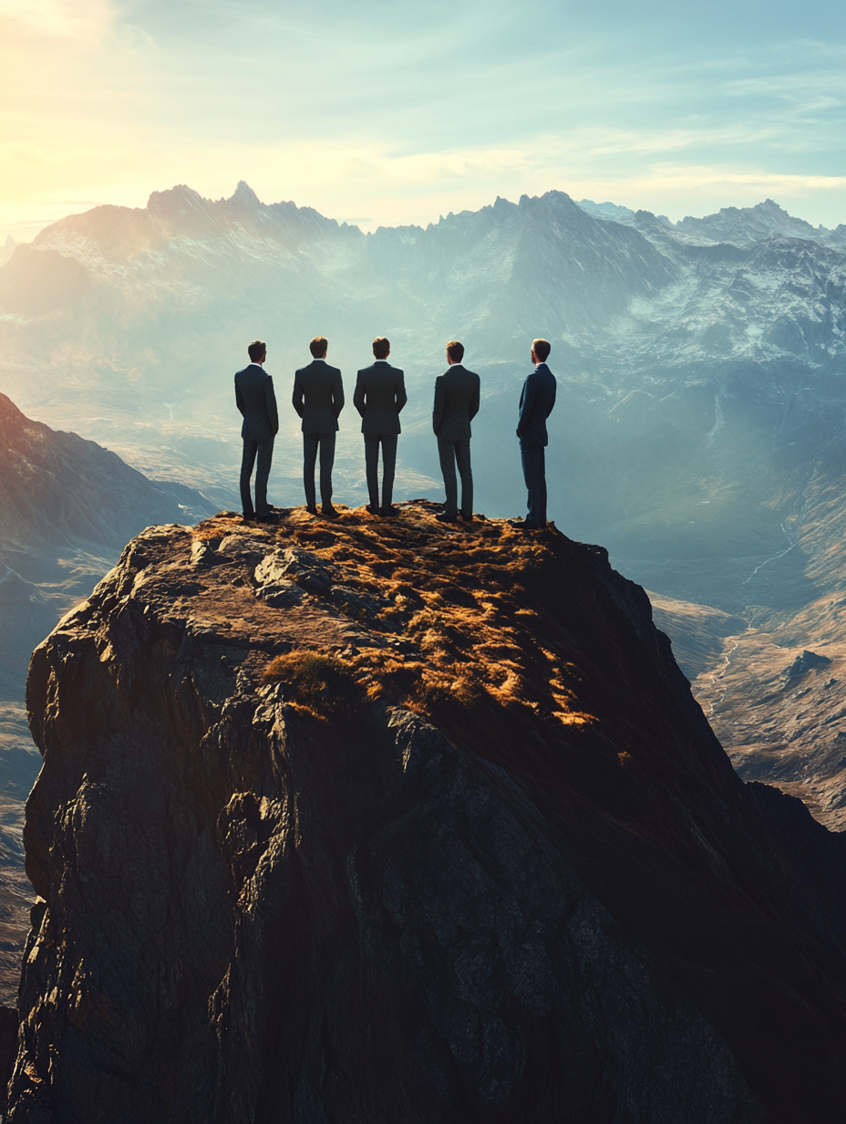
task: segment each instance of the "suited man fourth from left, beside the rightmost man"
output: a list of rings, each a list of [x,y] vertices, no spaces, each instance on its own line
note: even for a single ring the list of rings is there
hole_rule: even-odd
[[[461,514],[469,523],[473,518],[473,471],[470,466],[470,423],[479,413],[480,379],[469,371],[462,360],[464,344],[451,339],[446,345],[449,364],[435,380],[435,409],[433,428],[438,438],[440,471],[446,491],[445,510],[435,518],[440,523],[456,523],[458,517],[458,487],[455,465],[461,475]]]

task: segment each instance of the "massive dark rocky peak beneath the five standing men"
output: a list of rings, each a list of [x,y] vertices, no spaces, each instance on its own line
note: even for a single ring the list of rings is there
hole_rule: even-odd
[[[13,1124],[842,1118],[843,840],[602,550],[151,528],[27,703]]]

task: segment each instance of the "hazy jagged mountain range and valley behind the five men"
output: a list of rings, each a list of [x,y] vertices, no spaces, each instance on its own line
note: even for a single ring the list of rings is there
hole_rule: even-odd
[[[736,767],[798,783],[825,818],[846,779],[834,752],[846,713],[845,292],[846,227],[815,228],[772,200],[673,224],[551,191],[364,234],[262,203],[243,182],[217,201],[178,187],[146,208],[70,216],[12,248],[0,268],[0,378],[39,419],[235,507],[233,373],[246,344],[265,339],[282,407],[271,500],[292,504],[300,435],[288,393],[308,339],[329,337],[349,389],[384,334],[409,388],[397,495],[437,497],[429,409],[444,343],[457,337],[482,375],[476,504],[508,515],[525,502],[516,402],[529,343],[546,336],[560,384],[552,516],[604,544],[667,607],[657,614],[680,651],[699,645],[704,662],[682,662]],[[363,502],[351,407],[340,424],[336,496]],[[810,692],[795,728],[777,707],[758,723],[754,708],[775,706],[761,700],[806,649],[831,661],[822,682],[836,682]],[[774,761],[793,753],[784,777]]]

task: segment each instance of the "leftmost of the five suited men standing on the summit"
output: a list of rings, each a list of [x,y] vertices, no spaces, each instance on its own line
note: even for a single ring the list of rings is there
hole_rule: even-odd
[[[235,401],[244,415],[240,435],[244,438],[244,455],[240,462],[240,505],[245,519],[256,518],[269,523],[274,518],[267,504],[267,477],[273,460],[273,438],[279,433],[276,396],[273,379],[262,368],[267,348],[261,339],[247,347],[249,366],[235,375]],[[249,495],[249,478],[258,459],[255,472],[255,507]]]

